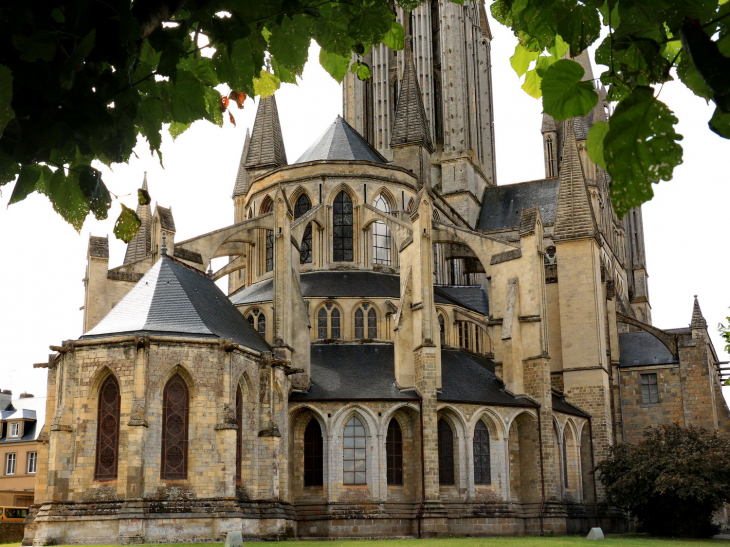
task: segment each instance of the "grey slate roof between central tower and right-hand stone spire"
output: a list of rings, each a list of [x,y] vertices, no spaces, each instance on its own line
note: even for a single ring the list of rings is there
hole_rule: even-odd
[[[484,190],[477,229],[484,232],[517,229],[522,211],[535,206],[540,207],[543,224],[553,224],[558,184],[558,179],[552,178],[488,187]]]

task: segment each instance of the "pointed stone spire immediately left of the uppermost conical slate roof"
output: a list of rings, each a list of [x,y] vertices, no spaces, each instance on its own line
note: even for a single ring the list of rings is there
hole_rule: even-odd
[[[259,101],[244,166],[247,169],[274,169],[284,165],[288,164],[284,139],[281,136],[279,111],[276,108],[276,98],[270,95]]]

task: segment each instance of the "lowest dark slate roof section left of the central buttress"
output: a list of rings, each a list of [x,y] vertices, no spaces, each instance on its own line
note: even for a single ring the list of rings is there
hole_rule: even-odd
[[[292,393],[290,401],[342,399],[418,399],[415,391],[395,387],[390,344],[313,344],[312,386]]]

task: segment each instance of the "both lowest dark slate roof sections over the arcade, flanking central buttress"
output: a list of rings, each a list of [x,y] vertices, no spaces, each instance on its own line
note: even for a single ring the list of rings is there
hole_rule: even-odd
[[[415,391],[395,386],[393,346],[380,344],[314,344],[312,386],[289,400],[418,399]],[[439,400],[492,405],[534,406],[504,391],[494,363],[455,350],[441,351],[443,391]]]

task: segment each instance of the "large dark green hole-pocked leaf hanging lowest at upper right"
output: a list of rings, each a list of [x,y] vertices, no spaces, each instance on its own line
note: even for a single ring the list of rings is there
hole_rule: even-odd
[[[606,170],[613,178],[611,198],[619,217],[650,200],[651,184],[670,180],[682,163],[677,118],[654,97],[651,87],[637,87],[622,100],[603,141]]]

